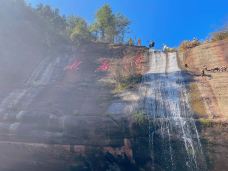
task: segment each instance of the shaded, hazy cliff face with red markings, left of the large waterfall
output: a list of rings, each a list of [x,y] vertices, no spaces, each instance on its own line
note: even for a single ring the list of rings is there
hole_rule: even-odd
[[[17,74],[22,77],[12,80],[14,86],[0,96],[0,170],[81,171],[88,162],[95,170],[108,170],[104,167],[113,160],[123,168],[123,161],[134,165],[130,143],[125,138],[129,132],[126,118],[107,113],[115,97],[112,88],[100,80],[108,72],[96,69],[103,59],[144,51],[145,48],[94,43],[67,54],[43,55],[28,68],[20,65],[23,72]],[[17,61],[24,58],[27,56],[19,55]],[[17,61],[12,63],[17,66]],[[0,78],[6,77],[10,77],[7,72],[0,73]],[[2,87],[8,89],[1,82]],[[82,153],[89,153],[88,159],[81,159]],[[96,165],[97,155],[101,169]],[[79,161],[84,161],[84,166]]]

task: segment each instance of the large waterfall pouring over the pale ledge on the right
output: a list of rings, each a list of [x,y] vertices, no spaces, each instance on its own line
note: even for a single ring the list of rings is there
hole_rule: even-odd
[[[183,74],[176,53],[150,53],[141,106],[149,120],[154,170],[206,170]]]

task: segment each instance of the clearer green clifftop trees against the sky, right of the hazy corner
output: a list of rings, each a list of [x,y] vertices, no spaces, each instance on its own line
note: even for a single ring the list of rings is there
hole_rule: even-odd
[[[59,14],[58,9],[52,9],[48,5],[39,4],[35,11],[51,25],[56,34],[68,35],[73,42],[93,39],[109,43],[123,42],[130,24],[123,15],[113,14],[107,4],[97,11],[96,22],[90,26],[81,17],[69,16],[66,19]]]

